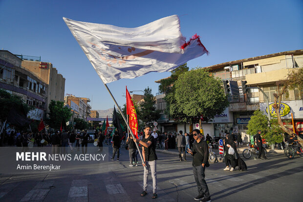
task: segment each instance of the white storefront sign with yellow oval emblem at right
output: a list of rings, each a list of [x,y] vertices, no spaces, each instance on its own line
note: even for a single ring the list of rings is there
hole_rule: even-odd
[[[277,117],[277,113],[273,108],[274,103],[269,104],[269,112],[271,116]],[[303,118],[303,101],[302,100],[293,100],[293,101],[284,101],[281,102],[279,113],[282,119],[290,119],[291,113],[293,113],[294,119]],[[266,103],[260,103],[260,111],[267,115],[268,110]]]

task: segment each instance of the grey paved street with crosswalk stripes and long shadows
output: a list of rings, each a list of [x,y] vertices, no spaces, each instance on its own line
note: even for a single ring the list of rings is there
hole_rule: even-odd
[[[112,149],[109,148],[111,154]],[[143,167],[129,167],[128,151],[120,161],[103,162],[98,170],[83,174],[0,175],[2,202],[194,202],[197,195],[192,158],[180,162],[177,155],[157,153],[158,199],[141,197]],[[246,160],[248,171],[223,171],[224,163],[206,169],[212,201],[302,201],[303,158],[290,160],[270,153],[269,160]],[[139,157],[139,155],[138,155]],[[108,157],[109,159],[110,157]],[[116,158],[115,158],[116,159]],[[151,177],[150,177],[151,180]],[[257,197],[258,195],[258,197]]]

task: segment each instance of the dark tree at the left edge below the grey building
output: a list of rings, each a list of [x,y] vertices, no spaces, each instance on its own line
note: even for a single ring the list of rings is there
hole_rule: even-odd
[[[12,108],[20,108],[20,107],[23,108],[25,114],[27,114],[28,112],[30,112],[31,110],[34,109],[33,106],[27,105],[20,96],[10,94],[9,92],[7,92],[5,90],[0,89],[0,121],[1,121],[0,127],[1,127],[1,129],[4,127],[4,122],[7,119],[7,116],[8,116],[8,113],[10,112],[10,110]],[[9,129],[11,127],[12,127],[12,125],[5,126],[3,128],[3,132],[5,132],[7,129]],[[3,136],[1,136],[1,143],[2,143],[3,139],[4,139]]]

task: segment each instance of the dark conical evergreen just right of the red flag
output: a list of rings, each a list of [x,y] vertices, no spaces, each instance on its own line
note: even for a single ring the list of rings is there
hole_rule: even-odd
[[[151,89],[148,87],[144,90],[144,101],[140,104],[141,120],[148,124],[160,118],[160,111],[155,107],[156,99],[151,94]]]

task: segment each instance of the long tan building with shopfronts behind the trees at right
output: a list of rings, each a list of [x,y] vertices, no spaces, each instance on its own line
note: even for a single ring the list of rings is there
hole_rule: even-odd
[[[247,81],[248,87],[258,87],[264,91],[269,98],[269,112],[272,117],[275,117],[272,104],[274,93],[277,92],[276,82],[285,79],[291,71],[303,68],[303,50],[230,61],[204,68],[210,69],[210,72],[222,81],[236,81],[238,85],[238,93],[228,95],[229,107],[223,113],[217,114],[213,121],[202,124],[204,134],[219,136],[222,133],[234,132],[241,134],[244,142],[248,142],[250,137],[246,134],[247,124],[253,112],[260,110],[267,115],[268,109],[263,93],[259,89],[249,89],[247,93],[243,93],[241,81]],[[282,98],[281,117],[283,120],[291,119],[292,113],[296,130],[303,131],[303,92],[295,88],[288,90],[287,94],[289,96],[284,94]],[[163,105],[160,105],[160,96],[157,99],[158,102],[157,109],[160,109]],[[174,123],[173,120],[163,120],[165,120],[162,124],[164,126],[171,122],[174,126],[174,128],[168,127],[171,130],[184,130],[182,124]],[[196,124],[186,126],[186,128],[195,129]],[[164,130],[166,130],[165,127]]]

